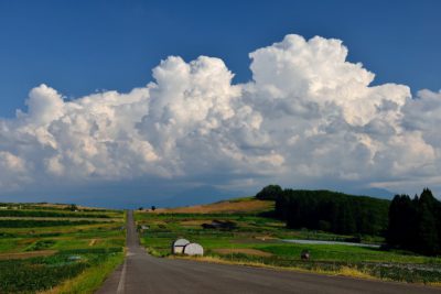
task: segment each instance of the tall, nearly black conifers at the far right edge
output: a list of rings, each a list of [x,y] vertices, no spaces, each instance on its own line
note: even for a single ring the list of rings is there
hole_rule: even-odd
[[[441,203],[424,188],[411,199],[397,195],[389,208],[387,242],[422,254],[441,254]]]

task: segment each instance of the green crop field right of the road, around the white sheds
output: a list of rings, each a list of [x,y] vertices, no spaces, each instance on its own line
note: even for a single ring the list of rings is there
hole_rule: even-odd
[[[267,205],[267,207],[271,206]],[[441,258],[346,244],[288,243],[282,240],[351,241],[354,236],[287,229],[284,222],[263,217],[270,215],[265,211],[247,213],[241,209],[240,213],[225,214],[209,208],[205,209],[209,213],[200,214],[176,211],[180,210],[137,211],[136,220],[141,231],[141,242],[151,254],[170,257],[171,243],[176,238],[185,238],[204,247],[205,257],[200,259],[206,261],[411,283],[439,284],[441,282]],[[193,210],[186,209],[186,211]],[[203,228],[203,224],[212,224],[214,220],[228,221],[233,225],[228,228]],[[379,244],[384,240],[380,237],[362,236],[362,241]],[[301,259],[301,252],[304,250],[310,252],[309,260]]]

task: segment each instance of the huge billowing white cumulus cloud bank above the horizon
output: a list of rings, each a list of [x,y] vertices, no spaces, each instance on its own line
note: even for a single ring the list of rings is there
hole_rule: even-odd
[[[40,85],[0,119],[0,188],[142,179],[223,188],[441,184],[441,92],[370,86],[342,41],[287,35],[233,84],[219,58],[170,56],[130,92],[66,100]]]

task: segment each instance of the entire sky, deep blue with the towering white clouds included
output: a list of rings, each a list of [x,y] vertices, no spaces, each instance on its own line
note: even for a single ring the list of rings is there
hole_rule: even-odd
[[[0,202],[441,193],[439,1],[0,1]]]

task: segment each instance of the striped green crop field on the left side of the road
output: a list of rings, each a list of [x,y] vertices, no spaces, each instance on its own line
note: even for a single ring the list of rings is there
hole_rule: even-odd
[[[122,210],[0,208],[0,293],[93,293],[123,260]]]

